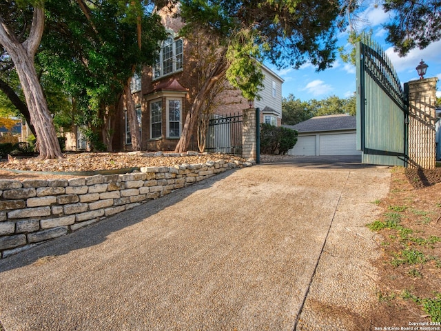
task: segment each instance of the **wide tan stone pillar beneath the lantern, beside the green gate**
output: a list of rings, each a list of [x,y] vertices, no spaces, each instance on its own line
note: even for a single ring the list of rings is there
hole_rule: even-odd
[[[435,104],[438,78],[409,81],[408,168],[435,168]]]

